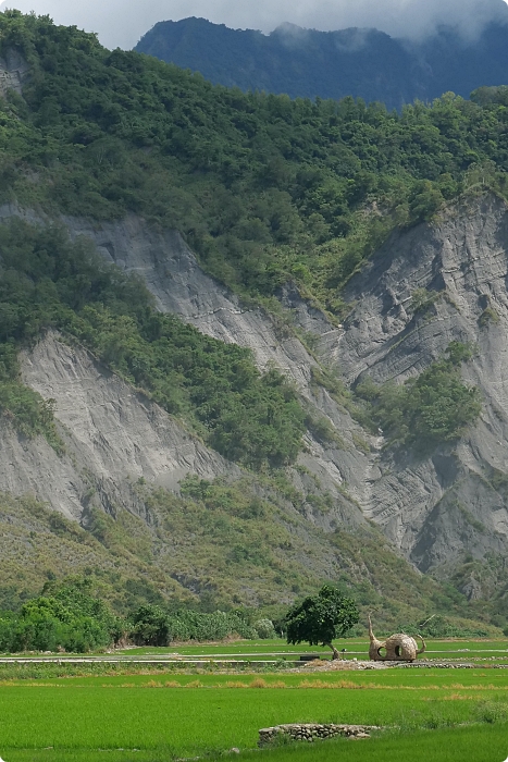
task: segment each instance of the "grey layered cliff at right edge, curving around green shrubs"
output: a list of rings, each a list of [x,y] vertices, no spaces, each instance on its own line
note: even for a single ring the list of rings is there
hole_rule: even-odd
[[[484,400],[474,430],[422,459],[382,454],[380,478],[365,484],[365,514],[423,570],[464,550],[476,557],[507,550],[507,501],[493,478],[508,471],[507,265],[508,211],[493,196],[397,233],[351,280],[356,307],[329,347],[349,383],[402,382],[454,340],[478,348],[463,368]],[[417,288],[441,297],[414,312]]]

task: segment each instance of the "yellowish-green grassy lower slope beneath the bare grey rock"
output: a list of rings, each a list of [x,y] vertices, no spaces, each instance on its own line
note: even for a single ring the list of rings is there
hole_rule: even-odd
[[[41,580],[82,574],[122,615],[147,600],[197,604],[198,589],[209,609],[253,604],[277,618],[288,598],[312,592],[323,579],[339,581],[363,607],[377,602],[380,628],[421,620],[436,609],[456,617],[473,613],[459,593],[396,556],[376,530],[325,534],[255,477],[233,484],[190,479],[182,497],[147,484],[133,489],[150,525],[126,511],[113,519],[92,508],[92,491],[87,530],[33,499],[0,495],[0,610],[16,610],[39,593]]]

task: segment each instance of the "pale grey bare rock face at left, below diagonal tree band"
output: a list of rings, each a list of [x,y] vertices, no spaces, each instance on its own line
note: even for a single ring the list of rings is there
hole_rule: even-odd
[[[176,490],[188,472],[205,479],[239,469],[188,434],[157,404],[136,393],[79,347],[49,335],[22,358],[23,380],[55,401],[65,454],[42,438],[23,441],[0,429],[0,480],[13,494],[26,492],[70,518],[82,519],[90,500],[114,514],[141,514],[133,484]]]

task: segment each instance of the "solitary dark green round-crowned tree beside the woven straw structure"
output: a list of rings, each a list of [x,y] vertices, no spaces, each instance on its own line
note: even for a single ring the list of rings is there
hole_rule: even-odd
[[[351,598],[346,598],[331,585],[324,585],[317,595],[308,595],[286,614],[287,642],[321,643],[332,649],[333,659],[339,659],[332,641],[344,637],[359,618]]]

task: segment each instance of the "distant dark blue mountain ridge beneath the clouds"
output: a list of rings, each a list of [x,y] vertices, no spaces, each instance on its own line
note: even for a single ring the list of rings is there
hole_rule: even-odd
[[[421,42],[376,29],[318,32],[284,24],[270,35],[230,29],[205,19],[159,22],[135,50],[200,72],[226,87],[292,98],[363,98],[400,109],[453,91],[468,98],[482,85],[508,83],[506,24],[464,40],[442,27]]]

